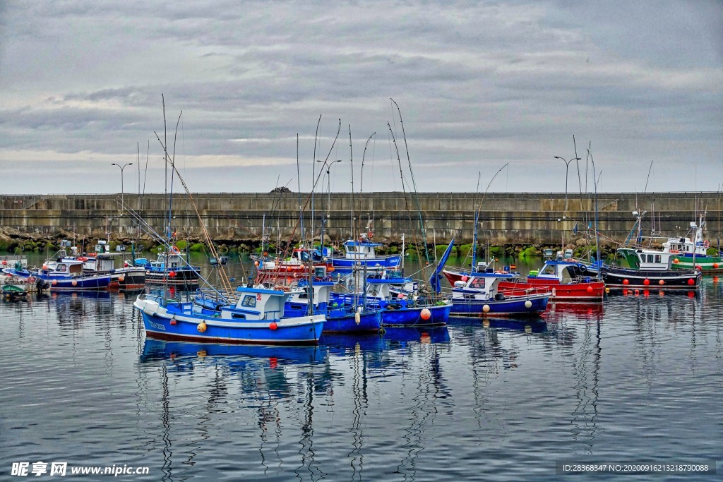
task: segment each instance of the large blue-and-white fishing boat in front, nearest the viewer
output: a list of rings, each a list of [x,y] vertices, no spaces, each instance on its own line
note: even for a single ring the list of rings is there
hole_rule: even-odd
[[[290,293],[265,288],[238,288],[236,304],[218,311],[193,301],[172,301],[141,294],[134,301],[148,337],[213,343],[315,345],[325,316],[285,317]]]

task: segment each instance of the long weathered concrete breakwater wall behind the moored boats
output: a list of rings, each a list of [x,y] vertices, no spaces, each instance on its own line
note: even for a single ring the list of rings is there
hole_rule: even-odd
[[[262,224],[270,228],[272,240],[299,240],[299,198],[305,206],[304,229],[315,226],[318,236],[321,219],[332,240],[343,241],[354,231],[374,233],[382,243],[408,242],[445,244],[454,236],[458,244],[471,243],[474,212],[479,207],[479,237],[489,244],[574,243],[594,226],[595,203],[591,196],[568,193],[494,193],[482,199],[474,193],[404,194],[381,192],[309,194],[294,192],[248,194],[193,194],[202,223],[210,236],[221,243],[258,244]],[[125,205],[156,231],[163,233],[168,217],[168,197],[163,194],[125,193]],[[565,209],[567,206],[567,209]],[[599,231],[608,238],[623,241],[633,227],[633,211],[647,211],[643,235],[651,228],[663,236],[684,236],[698,211],[707,211],[707,238],[711,246],[720,236],[721,196],[716,192],[685,193],[604,193],[598,194]],[[192,201],[186,194],[175,194],[171,225],[179,238],[200,239],[202,231]],[[424,234],[420,228],[420,218]],[[5,195],[0,197],[0,228],[6,238],[133,238],[137,223],[121,209],[121,194]]]

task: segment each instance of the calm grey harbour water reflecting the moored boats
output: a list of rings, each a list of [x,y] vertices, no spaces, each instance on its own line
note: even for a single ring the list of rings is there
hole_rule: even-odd
[[[147,466],[119,478],[154,481],[554,480],[556,462],[589,460],[717,461],[718,475],[686,480],[721,476],[711,278],[693,298],[614,296],[540,322],[453,319],[317,348],[146,340],[133,298],[0,304],[1,479],[38,461]]]

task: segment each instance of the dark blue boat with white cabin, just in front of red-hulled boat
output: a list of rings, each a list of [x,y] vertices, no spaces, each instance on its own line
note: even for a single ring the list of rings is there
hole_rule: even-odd
[[[502,280],[515,279],[506,272],[472,272],[466,281],[452,288],[453,316],[537,317],[547,309],[550,293],[546,287],[500,293]]]

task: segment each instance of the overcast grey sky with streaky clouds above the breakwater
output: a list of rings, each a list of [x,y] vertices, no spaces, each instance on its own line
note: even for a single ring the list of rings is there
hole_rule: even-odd
[[[569,192],[589,146],[600,191],[643,191],[651,161],[647,191],[723,184],[722,1],[10,0],[0,22],[0,194],[117,193],[111,163],[135,192],[138,145],[162,192],[162,94],[192,191],[297,191],[297,134],[309,191],[320,116],[324,190],[353,165],[358,191],[363,158],[364,191],[411,189],[411,162],[423,192],[505,163],[490,191],[562,192],[573,135]]]

